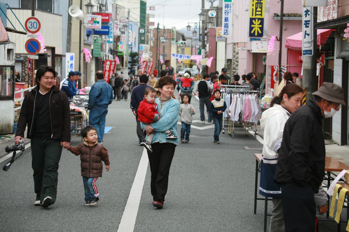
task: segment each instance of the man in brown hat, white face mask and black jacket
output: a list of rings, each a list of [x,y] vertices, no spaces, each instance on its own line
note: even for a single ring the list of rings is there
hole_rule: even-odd
[[[341,105],[346,105],[342,87],[324,82],[285,124],[274,182],[281,186],[286,231],[315,231],[314,193],[325,175],[322,120]]]

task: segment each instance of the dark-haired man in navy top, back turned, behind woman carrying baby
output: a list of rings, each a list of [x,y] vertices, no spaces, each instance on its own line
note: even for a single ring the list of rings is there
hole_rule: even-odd
[[[142,146],[144,141],[146,141],[146,132],[141,128],[141,124],[138,120],[137,110],[139,107],[139,103],[141,103],[142,100],[144,99],[144,92],[146,88],[149,87],[149,85],[147,85],[148,83],[147,75],[141,75],[139,79],[141,83],[137,85],[131,92],[130,108],[132,110],[133,115],[135,115],[136,117],[136,122],[137,122],[136,132],[139,140],[138,145]]]

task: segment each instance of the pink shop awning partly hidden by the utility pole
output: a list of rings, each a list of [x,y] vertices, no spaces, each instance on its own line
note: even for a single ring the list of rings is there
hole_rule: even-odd
[[[331,31],[333,31],[333,29],[318,29],[317,45],[324,44]],[[285,47],[292,50],[302,50],[302,37],[303,32],[287,37]]]

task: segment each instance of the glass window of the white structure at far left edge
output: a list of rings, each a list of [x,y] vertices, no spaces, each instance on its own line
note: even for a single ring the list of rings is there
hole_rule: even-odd
[[[14,77],[15,70],[13,66],[0,66],[0,99],[3,97],[13,97]]]

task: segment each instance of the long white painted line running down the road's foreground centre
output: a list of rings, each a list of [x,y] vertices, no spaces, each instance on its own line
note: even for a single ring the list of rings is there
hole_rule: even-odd
[[[132,232],[134,230],[147,168],[148,154],[146,148],[144,148],[130,194],[128,195],[124,214],[122,214],[118,232]]]

